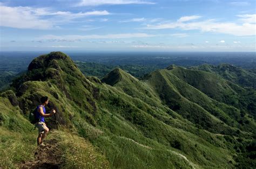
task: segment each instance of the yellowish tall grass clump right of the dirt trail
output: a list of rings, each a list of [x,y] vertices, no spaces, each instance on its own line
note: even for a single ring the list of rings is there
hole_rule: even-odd
[[[109,168],[109,161],[89,141],[68,130],[53,131],[48,139],[57,139],[62,168]]]

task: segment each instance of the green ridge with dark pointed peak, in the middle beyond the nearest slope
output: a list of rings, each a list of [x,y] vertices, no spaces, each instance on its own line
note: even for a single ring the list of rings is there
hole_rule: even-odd
[[[102,81],[147,104],[157,105],[157,107],[161,107],[162,104],[167,105],[192,123],[211,132],[234,134],[237,131],[230,126],[240,126],[238,121],[241,118],[238,109],[212,100],[177,78],[172,71],[167,69],[154,71],[146,81],[139,81],[121,69],[114,69]],[[245,129],[248,129],[247,127]]]

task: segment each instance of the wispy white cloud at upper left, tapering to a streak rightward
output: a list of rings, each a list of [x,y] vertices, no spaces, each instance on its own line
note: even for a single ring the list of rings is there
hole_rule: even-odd
[[[69,11],[52,11],[47,8],[10,7],[0,4],[0,26],[44,30],[58,28],[57,25],[69,23],[77,18],[109,14],[106,10],[72,13]],[[48,19],[45,19],[46,16]]]

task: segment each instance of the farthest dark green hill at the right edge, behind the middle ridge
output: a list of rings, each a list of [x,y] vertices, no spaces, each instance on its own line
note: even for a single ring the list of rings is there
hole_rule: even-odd
[[[256,74],[228,64],[219,66],[205,64],[191,69],[176,67],[172,72],[209,97],[240,109],[242,114],[248,111],[252,116],[256,115],[256,95],[253,88]],[[245,79],[247,79],[246,83],[244,83]]]

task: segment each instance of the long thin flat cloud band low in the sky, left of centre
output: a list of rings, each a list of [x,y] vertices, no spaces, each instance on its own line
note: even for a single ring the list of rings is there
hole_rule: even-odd
[[[55,40],[55,41],[77,41],[81,39],[123,39],[123,38],[147,38],[154,37],[154,34],[146,33],[123,33],[123,34],[91,34],[91,35],[65,35],[65,36],[55,36],[52,34],[45,35],[37,38],[38,40]]]

